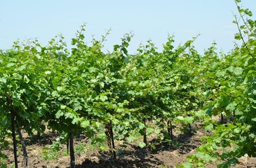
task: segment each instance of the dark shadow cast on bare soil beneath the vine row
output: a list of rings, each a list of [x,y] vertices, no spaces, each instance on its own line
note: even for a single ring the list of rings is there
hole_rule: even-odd
[[[172,154],[173,151],[177,151],[179,155],[191,152],[197,145],[194,144],[194,140],[191,139],[193,136],[194,134],[181,134],[175,137],[177,143],[174,144],[151,139],[149,144],[154,145],[154,149],[150,146],[147,148],[139,148],[135,144],[130,144],[126,149],[116,150],[116,160],[110,158],[110,153],[100,153],[100,155],[86,158],[82,164],[76,165],[76,167],[165,167],[165,162],[157,158],[156,155],[166,151],[169,152],[170,155],[166,155],[165,160],[173,160],[173,158],[175,158],[175,155]],[[191,140],[193,142],[191,142]]]

